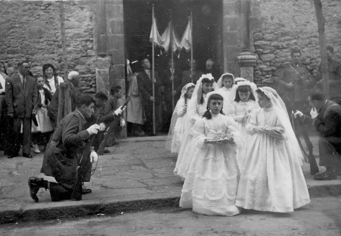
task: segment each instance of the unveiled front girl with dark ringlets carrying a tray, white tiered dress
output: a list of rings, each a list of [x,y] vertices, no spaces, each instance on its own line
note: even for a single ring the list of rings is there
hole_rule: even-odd
[[[192,208],[205,215],[236,215],[238,187],[236,146],[240,142],[239,129],[233,118],[221,113],[223,97],[213,93],[208,99],[207,112],[193,128],[194,158],[182,189],[180,207]],[[212,137],[230,139],[210,142]]]

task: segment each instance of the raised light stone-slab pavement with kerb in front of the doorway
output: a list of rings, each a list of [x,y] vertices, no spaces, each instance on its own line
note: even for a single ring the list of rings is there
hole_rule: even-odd
[[[92,193],[83,195],[82,201],[51,202],[49,191],[40,189],[35,203],[27,179],[39,175],[43,154],[7,159],[2,152],[0,223],[178,206],[183,183],[173,174],[177,155],[164,148],[165,138],[128,138],[110,147],[110,154],[99,156],[91,182],[85,183]],[[311,138],[316,156],[317,139]],[[304,163],[302,169],[312,197],[341,194],[340,176],[333,181],[314,181],[309,164]]]

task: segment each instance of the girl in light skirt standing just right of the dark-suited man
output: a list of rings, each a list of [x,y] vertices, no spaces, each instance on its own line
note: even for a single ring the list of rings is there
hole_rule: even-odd
[[[47,106],[49,101],[51,101],[52,95],[51,92],[43,87],[44,86],[44,78],[42,76],[36,77],[37,81],[37,89],[38,89],[38,109],[36,114],[36,120],[38,126],[32,124],[32,140],[33,140],[33,148],[35,153],[40,153],[38,148],[38,142],[40,138],[45,138],[45,145],[50,140],[51,132],[53,131],[52,124],[49,116],[47,115]],[[43,137],[42,137],[43,136]]]

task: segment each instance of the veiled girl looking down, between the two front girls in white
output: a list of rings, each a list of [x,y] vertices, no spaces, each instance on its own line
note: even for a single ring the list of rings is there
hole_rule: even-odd
[[[239,126],[243,142],[237,153],[237,163],[240,171],[242,171],[243,168],[245,152],[250,139],[250,135],[245,132],[245,124],[250,112],[254,108],[259,108],[256,101],[256,89],[257,85],[255,83],[248,80],[240,80],[233,86],[231,91],[230,99],[233,99],[231,115]]]

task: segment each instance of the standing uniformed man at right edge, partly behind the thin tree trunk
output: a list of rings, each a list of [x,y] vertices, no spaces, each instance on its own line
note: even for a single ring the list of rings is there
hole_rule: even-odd
[[[329,98],[341,96],[341,63],[334,58],[334,48],[327,46]],[[322,88],[323,80],[321,67],[316,75],[317,87]]]

